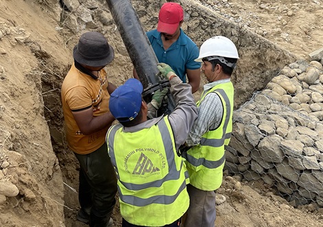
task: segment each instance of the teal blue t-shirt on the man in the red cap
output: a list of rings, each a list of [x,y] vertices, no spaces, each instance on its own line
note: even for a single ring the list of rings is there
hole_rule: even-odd
[[[181,30],[179,39],[164,50],[161,34],[157,30],[146,32],[159,63],[166,63],[172,67],[177,76],[186,83],[186,69],[199,69],[201,63],[194,61],[199,57],[197,45]]]

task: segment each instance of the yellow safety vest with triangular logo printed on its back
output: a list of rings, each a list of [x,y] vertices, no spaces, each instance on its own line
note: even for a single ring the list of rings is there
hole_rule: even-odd
[[[138,226],[165,226],[188,209],[188,172],[177,155],[168,117],[153,127],[107,133],[108,153],[118,177],[121,215]]]

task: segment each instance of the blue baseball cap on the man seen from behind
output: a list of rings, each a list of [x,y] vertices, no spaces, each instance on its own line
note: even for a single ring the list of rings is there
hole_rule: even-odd
[[[109,109],[115,119],[127,122],[137,117],[142,107],[142,89],[139,80],[130,78],[112,92]]]

